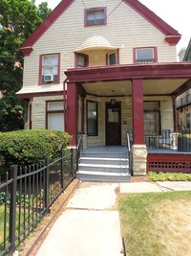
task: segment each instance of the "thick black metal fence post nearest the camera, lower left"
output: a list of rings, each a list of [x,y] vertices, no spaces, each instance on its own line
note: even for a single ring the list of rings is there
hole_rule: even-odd
[[[10,201],[10,255],[15,251],[15,229],[16,229],[16,187],[18,166],[11,166],[11,201]]]

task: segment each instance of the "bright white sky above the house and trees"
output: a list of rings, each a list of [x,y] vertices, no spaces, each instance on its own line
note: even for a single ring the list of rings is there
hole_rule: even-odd
[[[48,2],[49,8],[52,10],[61,2],[61,0],[35,0],[35,4],[39,5],[44,1]],[[86,6],[88,6],[88,1],[90,0],[83,0]],[[120,1],[118,0],[118,2]],[[139,0],[139,2],[159,15],[181,34],[180,42],[177,45],[178,52],[182,47],[187,47],[191,37],[191,0]]]

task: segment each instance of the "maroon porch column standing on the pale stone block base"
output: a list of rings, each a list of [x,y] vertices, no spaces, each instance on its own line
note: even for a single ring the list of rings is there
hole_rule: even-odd
[[[143,82],[132,80],[134,145],[144,143]]]

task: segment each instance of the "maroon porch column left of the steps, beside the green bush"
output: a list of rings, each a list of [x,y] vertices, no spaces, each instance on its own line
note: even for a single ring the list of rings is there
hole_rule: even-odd
[[[72,147],[77,145],[77,85],[67,82],[67,132],[73,136]]]

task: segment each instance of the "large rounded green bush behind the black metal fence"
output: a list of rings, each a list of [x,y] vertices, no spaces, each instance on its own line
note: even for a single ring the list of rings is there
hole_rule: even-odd
[[[39,163],[66,148],[71,136],[63,131],[25,129],[0,133],[0,161],[2,168],[11,165]]]

